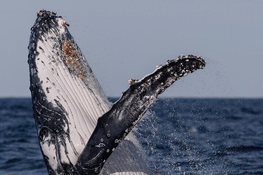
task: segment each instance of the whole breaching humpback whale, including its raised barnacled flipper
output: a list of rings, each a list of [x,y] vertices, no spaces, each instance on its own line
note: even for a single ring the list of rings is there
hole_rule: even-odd
[[[158,94],[202,69],[200,56],[180,55],[111,104],[55,11],[42,9],[31,28],[29,75],[39,144],[49,174],[151,174],[131,133]]]

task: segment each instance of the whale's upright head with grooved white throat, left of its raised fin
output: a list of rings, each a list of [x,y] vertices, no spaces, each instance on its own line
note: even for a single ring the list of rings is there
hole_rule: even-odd
[[[50,173],[71,171],[110,103],[56,12],[42,9],[31,28],[29,75],[41,151]]]

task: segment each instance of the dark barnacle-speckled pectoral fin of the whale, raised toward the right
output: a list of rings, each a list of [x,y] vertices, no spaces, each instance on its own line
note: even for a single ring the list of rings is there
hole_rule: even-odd
[[[95,130],[78,158],[78,169],[99,173],[114,149],[154,103],[157,95],[176,80],[204,66],[205,61],[201,57],[179,56],[179,59],[168,60],[167,64],[159,66],[141,80],[130,81],[129,89],[98,119]]]

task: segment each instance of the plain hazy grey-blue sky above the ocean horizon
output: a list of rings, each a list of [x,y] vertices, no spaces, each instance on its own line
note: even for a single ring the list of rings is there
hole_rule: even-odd
[[[0,11],[0,97],[29,97],[30,27],[57,11],[108,96],[120,96],[178,55],[207,66],[163,96],[263,97],[263,1],[5,1]]]

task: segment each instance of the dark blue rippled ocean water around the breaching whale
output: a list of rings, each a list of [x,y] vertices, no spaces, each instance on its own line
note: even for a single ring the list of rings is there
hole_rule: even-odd
[[[158,98],[133,132],[153,172],[263,174],[263,99]],[[30,98],[0,99],[0,133],[0,174],[47,175]]]

